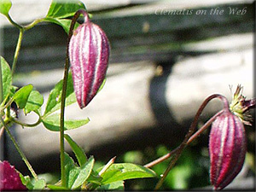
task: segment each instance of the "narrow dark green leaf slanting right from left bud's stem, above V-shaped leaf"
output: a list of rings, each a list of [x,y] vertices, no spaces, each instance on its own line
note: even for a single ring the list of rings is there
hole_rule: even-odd
[[[64,137],[67,140],[67,143],[69,143],[70,147],[73,149],[73,153],[76,155],[76,158],[79,160],[79,166],[83,166],[84,163],[87,161],[84,150],[80,148],[80,146],[75,143],[69,135],[65,134]]]

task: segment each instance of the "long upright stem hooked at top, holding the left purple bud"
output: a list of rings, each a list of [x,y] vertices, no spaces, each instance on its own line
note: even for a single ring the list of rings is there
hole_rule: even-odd
[[[64,77],[62,84],[62,93],[61,93],[61,118],[60,118],[60,148],[61,148],[61,183],[62,186],[66,184],[66,175],[65,175],[65,148],[64,148],[64,113],[65,113],[65,102],[66,102],[66,94],[67,94],[67,77],[68,77],[68,68],[69,68],[69,57],[68,57],[68,47],[70,38],[73,35],[73,28],[75,26],[76,21],[79,19],[79,15],[87,15],[84,9],[79,9],[75,15],[73,15],[73,19],[69,28],[68,36],[67,36],[67,49],[66,49],[66,62],[64,68]]]

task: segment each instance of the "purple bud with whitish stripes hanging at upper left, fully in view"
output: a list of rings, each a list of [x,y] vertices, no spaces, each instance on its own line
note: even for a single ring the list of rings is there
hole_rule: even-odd
[[[105,32],[85,16],[69,44],[73,87],[80,108],[96,96],[108,68],[110,47]]]

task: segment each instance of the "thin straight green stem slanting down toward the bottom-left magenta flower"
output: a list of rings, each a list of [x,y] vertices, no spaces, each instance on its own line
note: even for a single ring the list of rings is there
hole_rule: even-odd
[[[16,142],[15,137],[12,136],[11,132],[9,131],[9,127],[7,125],[5,125],[4,121],[2,118],[1,119],[1,123],[3,124],[4,129],[6,130],[7,134],[9,135],[10,139],[12,140],[12,142],[15,145],[15,148],[17,149],[17,151],[19,152],[22,160],[25,162],[28,170],[32,173],[32,177],[34,177],[36,180],[38,180],[38,175],[36,174],[36,172],[32,169],[31,164],[29,163],[29,161],[26,159],[26,155],[21,151],[19,144]]]

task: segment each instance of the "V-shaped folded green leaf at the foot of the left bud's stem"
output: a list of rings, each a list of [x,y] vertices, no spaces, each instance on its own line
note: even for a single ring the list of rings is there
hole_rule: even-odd
[[[91,156],[83,166],[78,167],[75,166],[73,159],[67,153],[65,153],[65,171],[67,174],[67,188],[79,188],[90,176],[90,173],[94,166],[94,162],[95,160]]]

